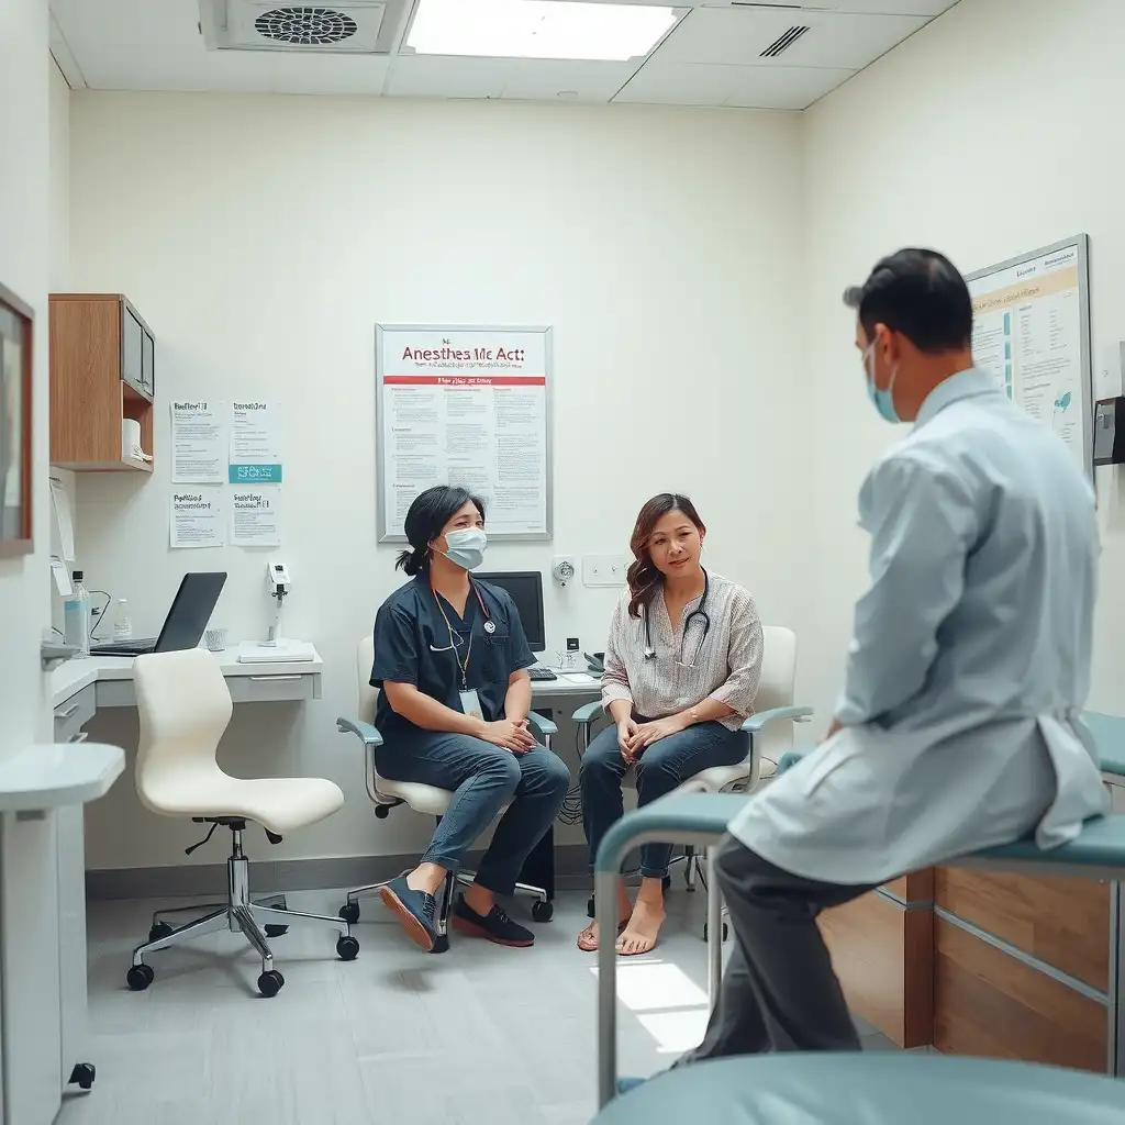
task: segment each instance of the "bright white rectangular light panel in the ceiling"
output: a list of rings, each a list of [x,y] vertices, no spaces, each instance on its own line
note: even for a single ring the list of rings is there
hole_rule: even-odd
[[[672,29],[675,8],[577,0],[418,0],[406,46],[420,55],[626,62]]]

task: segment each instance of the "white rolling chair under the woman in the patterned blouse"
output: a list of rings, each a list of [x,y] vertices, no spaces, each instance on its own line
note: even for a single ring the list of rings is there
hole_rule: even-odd
[[[793,747],[793,723],[809,722],[812,708],[794,706],[793,691],[796,683],[796,634],[783,626],[764,626],[762,629],[762,675],[758,680],[758,693],[754,699],[755,712],[742,730],[750,736],[750,745],[746,757],[737,765],[713,766],[702,770],[684,782],[684,788],[702,790],[706,793],[749,793],[758,785],[762,777],[763,763],[767,766],[765,776],[772,776],[781,756]],[[591,731],[594,722],[603,714],[601,702],[587,703],[574,713],[578,727],[578,753],[585,755],[590,746]],[[637,788],[637,772],[630,768],[622,781],[629,789]],[[704,881],[706,874],[703,857],[693,848],[676,856],[672,862],[684,862],[684,882],[690,891],[695,890],[695,876]],[[665,879],[665,886],[670,883]],[[594,900],[587,904],[587,912],[594,917]],[[723,937],[727,926],[723,922]],[[703,937],[708,937],[706,926]]]

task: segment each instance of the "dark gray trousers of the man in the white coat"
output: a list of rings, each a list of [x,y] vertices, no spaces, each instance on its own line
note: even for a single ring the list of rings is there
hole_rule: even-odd
[[[728,836],[716,873],[735,946],[703,1042],[676,1065],[766,1051],[858,1051],[817,915],[866,894],[775,867]]]

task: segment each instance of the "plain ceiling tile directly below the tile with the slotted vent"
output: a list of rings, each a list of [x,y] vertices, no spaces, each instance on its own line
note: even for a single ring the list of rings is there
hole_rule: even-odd
[[[855,72],[806,66],[727,66],[654,61],[614,101],[659,106],[804,109]]]

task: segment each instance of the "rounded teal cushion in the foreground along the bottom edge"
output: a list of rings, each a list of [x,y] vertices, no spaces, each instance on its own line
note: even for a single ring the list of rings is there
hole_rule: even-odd
[[[1125,1082],[943,1055],[766,1054],[668,1071],[594,1125],[1122,1125]]]

